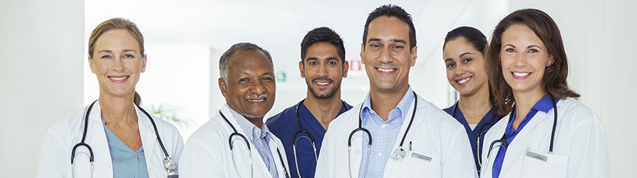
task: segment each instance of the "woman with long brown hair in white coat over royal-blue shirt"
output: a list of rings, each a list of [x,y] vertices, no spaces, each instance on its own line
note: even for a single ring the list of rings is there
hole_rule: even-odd
[[[609,177],[599,116],[566,84],[568,61],[553,19],[537,9],[499,22],[487,50],[497,114],[480,177]]]

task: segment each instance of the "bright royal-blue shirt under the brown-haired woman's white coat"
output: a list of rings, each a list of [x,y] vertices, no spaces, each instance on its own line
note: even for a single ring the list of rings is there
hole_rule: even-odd
[[[512,128],[513,120],[509,119],[511,121],[509,121],[509,124],[507,125],[507,130],[504,131],[504,140],[506,140],[507,143],[511,143],[517,133],[519,133],[519,131],[522,130],[524,126],[527,126],[527,123],[531,121],[531,118],[533,118],[533,116],[535,116],[538,111],[548,113],[552,108],[553,101],[551,101],[551,96],[549,96],[549,94],[545,94],[544,96],[542,96],[542,99],[539,99],[539,101],[537,101],[537,103],[533,105],[529,113],[527,113],[527,116],[522,119],[522,123],[519,123],[519,126],[517,126],[517,130]],[[512,111],[510,114],[510,116],[515,116],[515,111]],[[502,162],[504,162],[504,155],[506,153],[506,149],[504,149],[503,147],[499,147],[499,150],[497,151],[497,155],[495,156],[495,160],[493,162],[493,178],[499,177],[500,171],[502,170]]]

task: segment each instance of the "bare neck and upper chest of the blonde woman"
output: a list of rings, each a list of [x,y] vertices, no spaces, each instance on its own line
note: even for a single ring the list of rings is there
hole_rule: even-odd
[[[122,126],[125,123],[137,123],[137,112],[133,103],[134,93],[130,96],[106,96],[100,94],[101,117],[106,123]]]

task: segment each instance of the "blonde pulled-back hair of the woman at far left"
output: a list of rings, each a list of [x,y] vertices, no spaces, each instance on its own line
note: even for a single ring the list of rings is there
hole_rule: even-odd
[[[93,29],[93,33],[90,33],[90,38],[88,38],[88,55],[93,57],[93,52],[95,52],[95,42],[98,41],[98,38],[108,30],[128,30],[130,35],[133,35],[133,38],[137,40],[138,45],[140,46],[140,53],[144,55],[144,36],[140,32],[140,29],[137,28],[135,23],[128,21],[128,19],[124,18],[110,18],[107,21],[100,23],[95,29]],[[135,96],[133,98],[133,102],[135,105],[140,106],[142,104],[142,97],[140,94],[135,91]]]

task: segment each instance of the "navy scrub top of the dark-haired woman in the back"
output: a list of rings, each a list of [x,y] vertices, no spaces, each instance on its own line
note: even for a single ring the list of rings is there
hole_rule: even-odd
[[[456,106],[456,104],[453,104],[451,107],[448,107],[447,109],[442,109],[442,111],[445,111],[449,113],[449,115],[453,116],[452,115],[453,109]],[[482,144],[485,143],[485,134],[500,119],[498,116],[495,116],[493,123],[485,125],[485,123],[491,122],[491,119],[493,118],[494,114],[495,114],[495,108],[491,108],[491,110],[489,110],[487,115],[482,117],[482,120],[480,120],[480,123],[478,123],[477,126],[475,126],[475,130],[471,130],[471,127],[469,126],[469,123],[467,123],[467,120],[465,119],[465,115],[462,114],[462,111],[460,111],[460,109],[457,109],[457,111],[455,111],[454,118],[458,122],[462,123],[462,126],[465,126],[465,131],[467,132],[467,135],[469,136],[469,143],[471,144],[471,149],[473,150],[473,160],[475,161],[475,168],[477,169],[477,171],[480,171],[480,162],[478,162],[478,157],[482,155],[482,150],[480,150],[480,152],[478,152],[477,150],[478,133],[480,133],[480,147],[482,147]],[[482,128],[482,130],[480,130],[480,127],[483,125],[485,125],[485,127]]]

